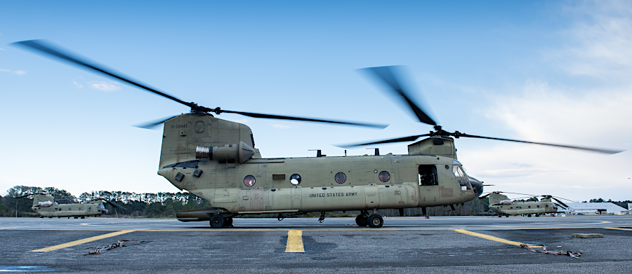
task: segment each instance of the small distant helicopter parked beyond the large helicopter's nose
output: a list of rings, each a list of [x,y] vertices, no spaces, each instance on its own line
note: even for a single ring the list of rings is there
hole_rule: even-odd
[[[498,217],[509,217],[509,215],[526,215],[527,217],[531,217],[532,214],[535,215],[535,217],[539,217],[542,214],[558,212],[558,207],[562,207],[563,209],[567,209],[568,207],[568,205],[562,203],[562,201],[551,195],[530,195],[531,197],[529,197],[529,200],[518,200],[520,198],[511,200],[506,195],[503,195],[501,193],[529,195],[522,193],[494,191],[492,193],[488,193],[485,196],[481,196],[479,199],[483,199],[489,196],[489,210],[496,212],[498,214]],[[538,200],[538,197],[542,198]],[[561,197],[558,198],[564,199]],[[553,203],[551,199],[555,200],[555,202],[557,203]]]

